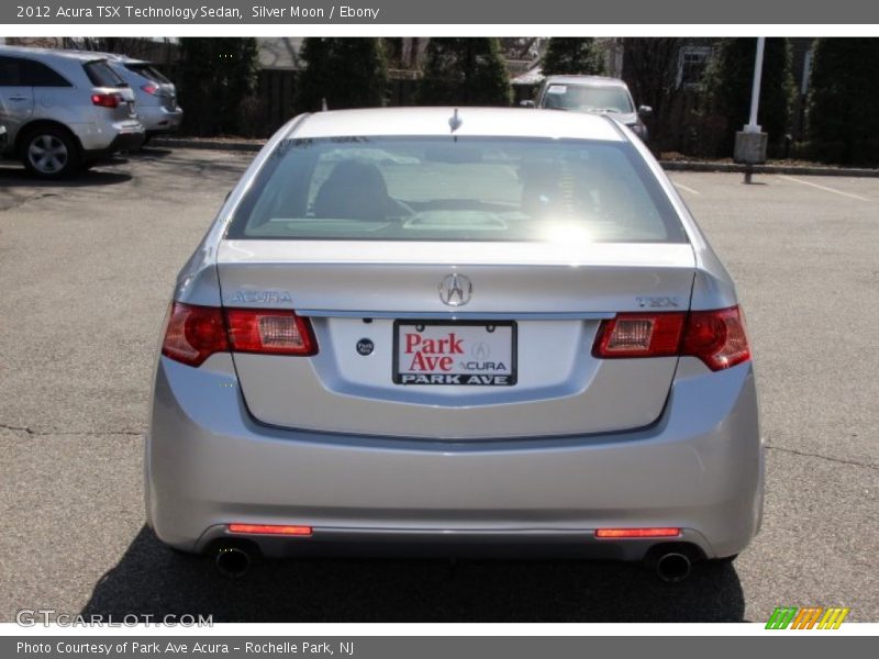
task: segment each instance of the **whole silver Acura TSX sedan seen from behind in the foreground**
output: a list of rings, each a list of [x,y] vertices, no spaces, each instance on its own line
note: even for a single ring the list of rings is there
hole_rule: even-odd
[[[755,536],[763,462],[733,282],[622,124],[321,112],[179,275],[147,517],[227,574],[415,551],[678,580]]]

